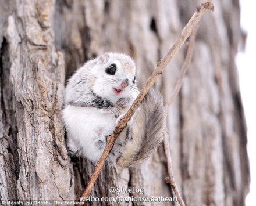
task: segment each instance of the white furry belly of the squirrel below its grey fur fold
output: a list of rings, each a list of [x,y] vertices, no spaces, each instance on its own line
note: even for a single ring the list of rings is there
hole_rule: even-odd
[[[67,106],[63,112],[68,146],[97,162],[105,148],[105,137],[115,129],[116,118],[109,111],[91,107]]]

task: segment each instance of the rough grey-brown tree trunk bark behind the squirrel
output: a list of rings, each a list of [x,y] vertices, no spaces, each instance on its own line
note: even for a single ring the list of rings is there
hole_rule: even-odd
[[[143,85],[198,3],[0,1],[0,199],[79,197],[94,166],[67,153],[60,114],[65,77],[86,60],[116,51],[133,57]],[[244,205],[247,138],[234,65],[241,37],[239,2],[214,0],[214,5],[215,12],[202,19],[189,72],[169,109],[170,149],[187,205]],[[155,84],[165,100],[183,59],[180,52]],[[144,197],[169,197],[166,176],[161,147],[131,171],[106,165],[92,196],[115,197],[109,188],[134,187],[144,189]]]

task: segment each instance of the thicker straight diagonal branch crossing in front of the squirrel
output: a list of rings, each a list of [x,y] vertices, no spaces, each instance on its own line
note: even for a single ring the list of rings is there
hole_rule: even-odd
[[[131,105],[130,109],[127,111],[125,116],[119,121],[118,125],[116,125],[116,128],[113,131],[113,134],[107,137],[106,147],[101,155],[101,158],[99,158],[99,161],[95,166],[93,174],[91,175],[91,178],[80,200],[83,200],[84,198],[88,197],[89,194],[91,193],[93,185],[96,179],[98,178],[99,172],[101,171],[101,168],[103,167],[106,161],[106,158],[108,157],[108,154],[111,152],[113,148],[115,140],[118,138],[118,135],[120,134],[120,132],[122,132],[122,130],[127,126],[127,122],[133,116],[135,110],[138,107],[138,104],[141,102],[141,100],[144,99],[145,95],[148,93],[149,89],[157,80],[159,75],[163,73],[163,70],[166,67],[166,65],[170,62],[173,56],[176,55],[176,53],[182,47],[186,39],[190,36],[191,32],[194,30],[194,27],[198,24],[201,17],[206,12],[206,10],[207,9],[213,10],[214,6],[212,5],[211,2],[212,0],[205,0],[204,3],[202,3],[202,5],[197,6],[197,11],[191,17],[187,25],[183,28],[182,32],[180,32],[179,37],[177,38],[175,44],[169,50],[168,54],[161,61],[157,63],[157,68],[154,70],[150,78],[148,78],[147,83],[145,84],[143,89],[141,89],[141,92],[137,96],[137,98],[134,100],[133,105]]]

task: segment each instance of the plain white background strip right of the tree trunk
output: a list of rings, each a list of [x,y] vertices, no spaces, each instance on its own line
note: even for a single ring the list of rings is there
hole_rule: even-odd
[[[241,27],[247,32],[246,50],[236,57],[240,91],[246,114],[247,151],[250,161],[250,193],[246,206],[256,205],[256,1],[240,0]]]

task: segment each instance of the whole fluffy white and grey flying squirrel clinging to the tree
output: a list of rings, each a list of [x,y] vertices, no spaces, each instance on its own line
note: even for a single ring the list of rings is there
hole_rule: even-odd
[[[89,60],[69,79],[62,118],[73,155],[97,163],[120,118],[138,95],[136,66],[123,53]],[[163,139],[163,103],[150,89],[120,133],[107,161],[123,168],[143,162]]]

